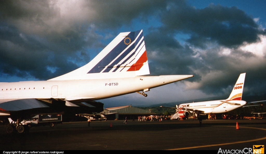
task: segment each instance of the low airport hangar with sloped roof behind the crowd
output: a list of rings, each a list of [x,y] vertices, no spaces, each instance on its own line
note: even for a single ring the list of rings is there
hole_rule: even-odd
[[[116,113],[117,112],[117,113]],[[140,108],[136,108],[134,106],[120,106],[114,108],[106,108],[103,109],[101,113],[115,113],[106,115],[107,120],[124,120],[127,117],[127,120],[138,120],[138,116],[150,116],[155,115],[155,113],[151,113],[150,110],[144,110]]]

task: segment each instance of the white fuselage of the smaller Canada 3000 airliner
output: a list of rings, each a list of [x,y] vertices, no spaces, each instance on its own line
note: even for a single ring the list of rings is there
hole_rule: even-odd
[[[229,103],[225,103],[222,101],[227,101],[229,103],[237,103],[239,105],[232,105]],[[210,114],[210,113],[225,113],[231,110],[234,110],[236,108],[239,108],[241,106],[246,105],[246,101],[241,100],[215,100],[215,101],[205,101],[205,102],[195,102],[195,103],[186,103],[186,104],[180,104],[178,108],[188,108],[190,109],[191,113],[193,110],[200,110],[203,111],[204,114]],[[193,109],[193,110],[191,110]]]

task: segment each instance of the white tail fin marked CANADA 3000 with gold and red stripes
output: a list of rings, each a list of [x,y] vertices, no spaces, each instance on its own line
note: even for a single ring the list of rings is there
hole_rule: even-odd
[[[241,100],[242,99],[245,77],[246,77],[246,73],[240,74],[227,100]]]

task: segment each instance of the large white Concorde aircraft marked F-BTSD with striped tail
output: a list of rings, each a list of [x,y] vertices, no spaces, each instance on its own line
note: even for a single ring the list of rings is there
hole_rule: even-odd
[[[0,83],[0,115],[19,123],[32,114],[64,114],[66,108],[75,114],[101,112],[103,104],[91,101],[135,92],[147,97],[151,88],[193,77],[147,74],[142,30],[120,33],[92,61],[72,72],[47,81]],[[102,110],[93,110],[97,105]],[[24,131],[23,126],[15,129]]]

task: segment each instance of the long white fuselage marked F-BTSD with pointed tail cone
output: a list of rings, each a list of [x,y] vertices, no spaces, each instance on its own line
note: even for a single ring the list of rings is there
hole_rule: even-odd
[[[61,98],[76,102],[99,100],[142,90],[147,91],[150,88],[189,77],[192,75],[0,83],[0,103],[27,98]]]

